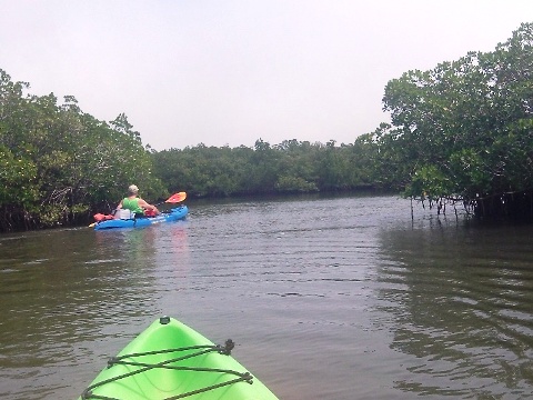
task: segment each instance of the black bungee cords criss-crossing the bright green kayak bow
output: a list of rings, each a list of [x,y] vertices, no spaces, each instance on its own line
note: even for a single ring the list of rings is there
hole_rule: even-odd
[[[154,351],[144,351],[144,352],[138,352],[138,353],[130,353],[130,354],[122,354],[119,357],[112,357],[108,361],[108,369],[112,368],[113,366],[121,364],[121,366],[132,366],[132,367],[141,367],[138,370],[128,372],[128,373],[122,373],[119,376],[115,376],[110,379],[105,379],[103,381],[100,381],[98,383],[89,386],[83,393],[81,394],[81,399],[99,399],[99,400],[121,400],[118,398],[110,398],[105,396],[98,396],[94,394],[92,391],[93,389],[104,386],[110,382],[115,382],[118,380],[132,377],[134,374],[143,373],[145,371],[152,370],[152,369],[170,369],[170,370],[180,370],[180,371],[195,371],[195,372],[214,372],[214,373],[227,373],[231,376],[237,376],[238,378],[228,380],[225,382],[217,383],[217,384],[211,384],[204,388],[199,388],[197,390],[191,390],[185,393],[181,393],[178,396],[169,397],[162,400],[174,400],[174,399],[183,399],[185,397],[190,397],[193,394],[199,394],[202,392],[207,392],[210,390],[214,390],[224,386],[238,383],[238,382],[248,382],[248,383],[253,383],[253,377],[250,372],[238,372],[234,370],[230,369],[221,369],[221,368],[208,368],[208,367],[188,367],[188,366],[172,366],[172,363],[180,362],[187,359],[191,359],[194,357],[203,356],[209,352],[218,352],[220,354],[224,356],[230,356],[231,350],[235,347],[235,343],[231,340],[228,339],[224,343],[224,346],[221,344],[205,344],[205,346],[189,346],[189,347],[183,347],[183,348],[177,348],[177,349],[164,349],[164,350],[154,350]],[[154,354],[163,354],[163,353],[172,353],[172,352],[183,352],[183,351],[191,351],[191,350],[200,350],[195,351],[193,353],[189,353],[185,356],[181,357],[175,357],[171,358],[169,360],[164,360],[158,363],[147,363],[147,362],[139,362],[139,361],[129,361],[127,359],[130,358],[138,358],[138,357],[144,357],[144,356],[154,356]],[[125,399],[124,399],[125,400]]]

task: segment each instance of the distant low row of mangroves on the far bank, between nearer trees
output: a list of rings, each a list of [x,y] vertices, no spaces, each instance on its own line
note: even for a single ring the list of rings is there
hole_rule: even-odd
[[[155,174],[168,190],[185,190],[191,197],[268,194],[349,190],[368,187],[355,160],[354,146],[285,140],[271,146],[262,139],[253,149],[208,148],[153,152]]]

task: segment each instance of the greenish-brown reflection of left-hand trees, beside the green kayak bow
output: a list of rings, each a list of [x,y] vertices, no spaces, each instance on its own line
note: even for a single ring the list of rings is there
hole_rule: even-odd
[[[87,384],[80,361],[100,366],[141,330],[145,314],[157,314],[162,233],[151,228],[1,238],[0,398],[47,399],[58,384],[76,398]],[[50,377],[61,382],[50,386]]]

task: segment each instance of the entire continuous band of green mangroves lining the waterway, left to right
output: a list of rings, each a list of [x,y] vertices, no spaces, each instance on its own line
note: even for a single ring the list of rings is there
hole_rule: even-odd
[[[135,183],[145,199],[378,188],[461,203],[477,216],[533,216],[533,24],[493,52],[471,52],[391,80],[391,124],[335,146],[151,151],[124,114],[104,122],[73,97],[28,93],[0,70],[0,231],[86,222]]]

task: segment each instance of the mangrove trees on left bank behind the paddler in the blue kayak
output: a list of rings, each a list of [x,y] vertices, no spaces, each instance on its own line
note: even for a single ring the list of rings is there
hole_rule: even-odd
[[[145,197],[167,194],[124,114],[108,124],[71,96],[60,104],[28,90],[0,70],[0,230],[74,222],[114,208],[131,183]]]

